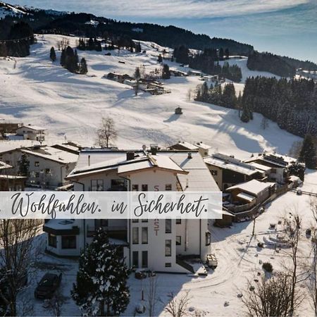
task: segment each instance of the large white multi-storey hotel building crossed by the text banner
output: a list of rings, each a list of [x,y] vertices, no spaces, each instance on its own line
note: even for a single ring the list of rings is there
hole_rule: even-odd
[[[68,175],[75,191],[218,191],[198,151],[85,149]],[[47,250],[78,256],[102,227],[120,244],[129,267],[189,273],[184,257],[206,261],[211,253],[208,220],[49,220]]]

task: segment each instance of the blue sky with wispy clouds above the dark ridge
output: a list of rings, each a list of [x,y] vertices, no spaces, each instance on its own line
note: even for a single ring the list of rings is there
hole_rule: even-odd
[[[316,0],[7,0],[38,8],[177,25],[317,62]]]

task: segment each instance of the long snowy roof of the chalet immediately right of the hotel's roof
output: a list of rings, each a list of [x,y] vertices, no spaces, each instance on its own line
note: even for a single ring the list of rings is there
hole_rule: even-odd
[[[226,170],[233,170],[244,175],[253,175],[254,173],[259,172],[254,166],[250,166],[238,159],[234,159],[231,156],[220,153],[205,157],[204,162],[207,165],[217,166],[218,168]]]

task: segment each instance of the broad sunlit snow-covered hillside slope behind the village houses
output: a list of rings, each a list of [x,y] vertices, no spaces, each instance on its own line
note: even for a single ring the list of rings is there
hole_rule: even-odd
[[[18,118],[23,123],[44,125],[50,139],[66,137],[93,145],[101,116],[108,115],[116,121],[118,147],[202,141],[215,150],[240,157],[263,149],[287,153],[292,143],[299,139],[280,130],[273,122],[263,130],[259,114],[255,114],[250,123],[242,123],[235,110],[188,101],[189,89],[194,90],[201,84],[199,77],[165,80],[171,93],[161,96],[143,92],[135,96],[128,85],[102,78],[109,72],[132,75],[136,66],[144,66],[147,73],[159,68],[156,60],[163,48],[157,44],[142,42],[146,54],[120,51],[118,55],[118,51],[112,51],[112,56],[105,56],[105,51],[78,51],[80,58],[87,59],[89,73],[75,75],[61,68],[58,61],[49,60],[49,49],[56,47],[61,39],[58,35],[38,36],[30,56],[16,58],[16,65],[12,59],[0,60],[1,118]],[[76,38],[69,39],[75,46]],[[247,70],[246,58],[231,59],[230,63],[242,67],[244,80],[249,75],[259,74]],[[183,69],[177,63],[168,64]],[[243,89],[243,85],[239,85]],[[183,108],[182,116],[175,116],[177,106]]]

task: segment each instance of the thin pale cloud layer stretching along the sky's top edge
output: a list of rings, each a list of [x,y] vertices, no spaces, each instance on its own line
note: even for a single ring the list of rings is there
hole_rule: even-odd
[[[17,0],[8,0],[11,4]],[[216,18],[278,11],[310,0],[20,0],[20,4],[103,16]]]

